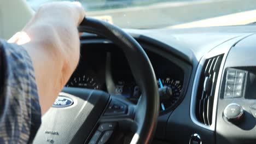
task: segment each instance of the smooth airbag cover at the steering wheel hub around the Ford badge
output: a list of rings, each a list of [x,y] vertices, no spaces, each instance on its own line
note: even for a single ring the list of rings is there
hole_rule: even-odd
[[[101,113],[109,94],[92,89],[65,87],[62,97],[73,100],[67,107],[51,107],[42,117],[34,143],[84,143]]]

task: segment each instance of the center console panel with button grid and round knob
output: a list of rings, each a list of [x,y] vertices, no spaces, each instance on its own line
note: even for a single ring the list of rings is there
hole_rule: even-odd
[[[216,143],[256,141],[256,35],[231,47],[223,68]]]

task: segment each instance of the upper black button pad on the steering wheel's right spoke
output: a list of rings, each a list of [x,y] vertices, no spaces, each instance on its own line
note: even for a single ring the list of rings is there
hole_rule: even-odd
[[[127,113],[126,104],[117,100],[112,100],[107,110],[105,111],[104,116],[122,115],[126,113]]]

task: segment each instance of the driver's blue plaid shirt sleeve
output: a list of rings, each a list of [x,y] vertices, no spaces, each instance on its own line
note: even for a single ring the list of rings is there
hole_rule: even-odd
[[[0,143],[32,143],[40,124],[31,58],[23,47],[0,40]]]

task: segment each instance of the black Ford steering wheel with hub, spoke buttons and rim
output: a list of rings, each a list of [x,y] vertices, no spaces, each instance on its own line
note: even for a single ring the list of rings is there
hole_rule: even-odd
[[[106,37],[123,50],[141,98],[135,105],[103,91],[65,87],[42,117],[33,143],[116,143],[120,131],[133,132],[130,143],[150,143],[158,119],[159,94],[146,52],[129,34],[108,22],[86,17],[78,29]]]

